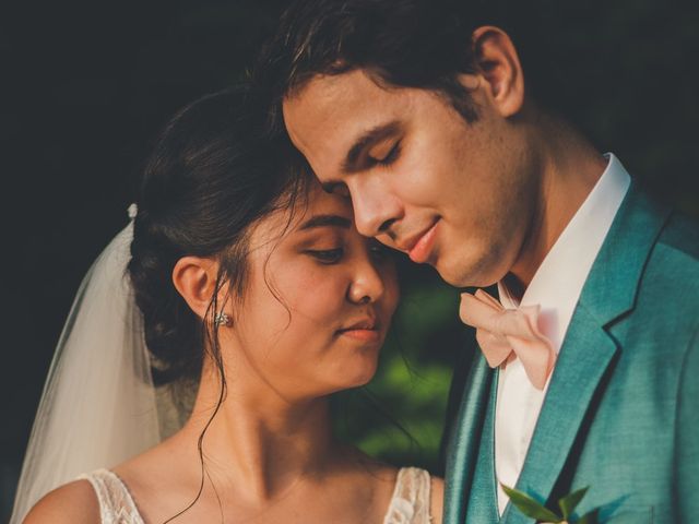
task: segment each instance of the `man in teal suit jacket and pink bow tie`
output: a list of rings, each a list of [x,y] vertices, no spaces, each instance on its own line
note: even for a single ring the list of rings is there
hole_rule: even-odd
[[[699,522],[699,228],[528,90],[487,2],[300,0],[258,80],[366,236],[434,265],[483,353],[455,370],[445,522]],[[497,300],[496,300],[497,298]]]

